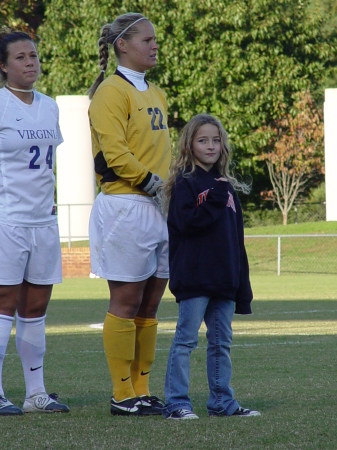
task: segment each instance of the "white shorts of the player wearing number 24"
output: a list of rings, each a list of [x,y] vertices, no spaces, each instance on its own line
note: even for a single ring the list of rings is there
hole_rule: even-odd
[[[18,227],[0,223],[0,285],[62,282],[58,225]]]

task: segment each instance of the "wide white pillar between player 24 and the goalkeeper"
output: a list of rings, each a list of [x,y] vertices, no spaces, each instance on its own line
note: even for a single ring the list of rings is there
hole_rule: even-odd
[[[60,236],[62,241],[84,240],[88,238],[96,193],[88,118],[90,101],[86,95],[61,95],[56,102],[64,139],[56,152]]]

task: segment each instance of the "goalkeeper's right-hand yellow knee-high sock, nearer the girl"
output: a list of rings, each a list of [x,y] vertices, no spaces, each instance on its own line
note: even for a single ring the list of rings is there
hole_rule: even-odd
[[[149,378],[157,340],[157,319],[135,318],[136,349],[131,364],[131,380],[137,396],[150,395]]]

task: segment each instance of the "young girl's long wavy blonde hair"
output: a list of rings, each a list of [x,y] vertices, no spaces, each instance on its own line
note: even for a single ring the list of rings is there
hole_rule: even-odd
[[[177,176],[182,173],[184,177],[189,177],[195,172],[195,160],[193,155],[193,138],[202,125],[211,124],[217,127],[219,130],[219,136],[221,141],[220,157],[214,166],[218,169],[221,176],[228,179],[234,189],[248,194],[250,192],[251,184],[246,184],[235,178],[230,173],[230,162],[232,157],[232,150],[228,144],[228,135],[223,128],[221,122],[215,117],[209,114],[198,114],[185,125],[182,130],[182,134],[178,141],[178,156],[173,162],[170,174],[164,181],[160,189],[160,197],[162,202],[162,209],[165,213],[168,211],[172,189],[177,179]]]

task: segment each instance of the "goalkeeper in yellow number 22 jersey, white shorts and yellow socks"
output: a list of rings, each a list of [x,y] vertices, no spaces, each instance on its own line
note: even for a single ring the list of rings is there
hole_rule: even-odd
[[[92,272],[108,281],[103,328],[111,374],[111,414],[161,414],[149,391],[155,357],[156,313],[168,280],[167,225],[156,191],[171,162],[164,93],[146,81],[156,65],[153,25],[128,13],[103,27],[101,74],[89,107],[97,196],[90,218]],[[104,80],[109,45],[118,67]],[[104,80],[104,81],[103,81]]]

